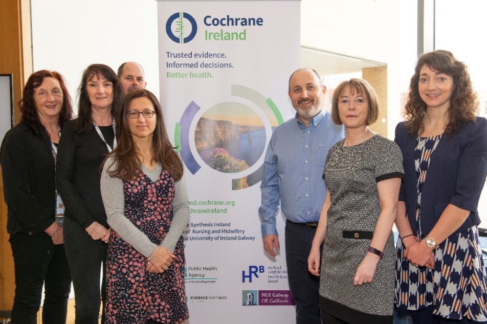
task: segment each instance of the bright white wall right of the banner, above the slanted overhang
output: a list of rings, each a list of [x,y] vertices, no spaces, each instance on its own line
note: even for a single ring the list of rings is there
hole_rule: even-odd
[[[411,30],[410,26],[414,27]],[[400,115],[401,92],[411,75],[402,72],[408,61],[414,71],[416,1],[303,0],[301,44],[347,56],[387,64],[388,137],[394,135]],[[411,35],[413,38],[411,39]],[[407,60],[406,60],[407,61]],[[409,70],[406,70],[409,71]],[[401,80],[406,79],[406,87]]]

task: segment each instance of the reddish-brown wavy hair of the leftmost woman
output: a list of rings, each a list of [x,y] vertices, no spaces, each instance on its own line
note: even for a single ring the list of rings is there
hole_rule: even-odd
[[[56,71],[40,70],[34,72],[27,80],[23,92],[24,96],[18,103],[20,112],[22,113],[21,121],[26,123],[32,129],[34,134],[38,134],[37,126],[41,124],[39,120],[39,114],[35,106],[35,89],[38,88],[42,84],[42,82],[44,82],[45,78],[56,79],[59,82],[59,86],[61,87],[62,107],[61,112],[59,113],[59,128],[62,129],[64,123],[69,121],[73,117],[71,97],[68,89],[64,84],[63,76]]]

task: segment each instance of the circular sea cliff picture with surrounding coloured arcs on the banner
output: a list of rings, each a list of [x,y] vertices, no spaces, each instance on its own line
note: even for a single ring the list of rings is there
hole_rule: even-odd
[[[231,95],[253,103],[262,110],[271,126],[271,132],[283,123],[276,104],[258,91],[232,84]],[[229,173],[232,190],[254,186],[262,180],[263,165],[252,168],[265,153],[267,130],[260,115],[250,106],[240,102],[222,102],[205,109],[195,121],[201,107],[191,101],[174,129],[174,145],[181,154],[188,170],[195,174],[202,168],[195,156],[201,157],[204,165],[221,173]],[[196,122],[193,134],[191,124]],[[196,152],[192,152],[194,141]],[[194,153],[194,154],[193,154]],[[197,154],[197,155],[196,155]],[[252,168],[252,169],[251,169]],[[253,171],[252,171],[253,170]],[[232,174],[238,174],[233,176]]]

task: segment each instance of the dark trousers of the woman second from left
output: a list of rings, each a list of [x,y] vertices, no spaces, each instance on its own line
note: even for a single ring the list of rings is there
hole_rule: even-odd
[[[100,225],[101,226],[101,225]],[[105,309],[105,263],[107,245],[93,240],[76,221],[64,219],[64,247],[73,277],[76,324],[98,324],[100,270],[103,265],[101,300]],[[102,323],[105,312],[102,313]]]

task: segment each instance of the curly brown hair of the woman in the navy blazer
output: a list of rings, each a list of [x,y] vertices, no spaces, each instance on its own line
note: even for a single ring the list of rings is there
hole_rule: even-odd
[[[445,132],[451,136],[462,123],[475,121],[475,111],[478,100],[472,88],[467,65],[458,61],[451,52],[438,50],[423,54],[419,57],[414,69],[414,75],[409,84],[409,96],[406,103],[406,122],[409,134],[424,131],[423,117],[426,104],[419,96],[418,84],[421,68],[427,65],[431,70],[444,73],[453,78],[453,91],[450,97],[449,117]]]

